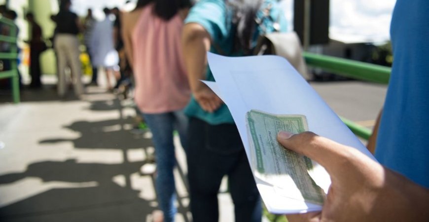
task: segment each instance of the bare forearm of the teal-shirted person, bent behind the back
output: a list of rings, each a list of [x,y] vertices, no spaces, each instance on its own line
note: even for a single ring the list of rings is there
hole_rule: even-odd
[[[192,91],[198,90],[205,79],[207,51],[210,50],[210,35],[199,24],[186,24],[182,34],[183,57]]]

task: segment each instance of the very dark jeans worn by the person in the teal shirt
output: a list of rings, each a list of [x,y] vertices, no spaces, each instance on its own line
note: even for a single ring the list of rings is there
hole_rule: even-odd
[[[190,118],[188,180],[194,222],[218,222],[217,192],[224,175],[236,222],[260,222],[261,201],[235,124],[210,125]]]

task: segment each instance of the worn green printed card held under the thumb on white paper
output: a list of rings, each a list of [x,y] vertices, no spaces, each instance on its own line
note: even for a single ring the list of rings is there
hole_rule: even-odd
[[[304,115],[275,115],[251,110],[246,115],[255,177],[273,185],[276,192],[293,199],[323,204],[325,193],[309,175],[313,161],[277,142],[277,134],[308,131]],[[295,190],[295,191],[292,191]]]

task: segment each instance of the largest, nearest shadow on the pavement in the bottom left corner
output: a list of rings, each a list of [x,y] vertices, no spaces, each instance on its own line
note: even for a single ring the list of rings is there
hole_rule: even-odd
[[[140,191],[112,181],[116,175],[139,172],[142,162],[121,164],[44,161],[30,164],[27,171],[0,176],[0,184],[37,177],[43,182],[74,182],[89,187],[54,188],[0,208],[2,222],[75,222],[75,221],[144,221],[154,208],[151,200],[138,197]],[[149,188],[149,187],[148,187]],[[30,220],[31,219],[31,220]]]

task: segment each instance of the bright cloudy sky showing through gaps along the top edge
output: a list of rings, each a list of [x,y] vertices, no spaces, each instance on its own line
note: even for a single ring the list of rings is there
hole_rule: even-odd
[[[72,0],[73,10],[84,15],[91,7],[102,17],[103,7],[121,6],[126,0]],[[383,42],[390,39],[389,27],[395,0],[330,0],[329,35],[344,42]],[[282,0],[292,27],[293,0]]]

